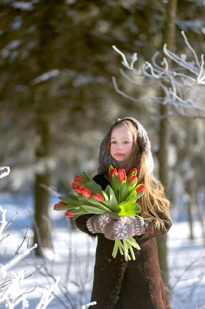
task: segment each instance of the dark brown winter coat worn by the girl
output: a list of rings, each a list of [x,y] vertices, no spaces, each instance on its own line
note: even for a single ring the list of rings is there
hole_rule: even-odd
[[[94,178],[104,189],[107,181]],[[90,215],[76,220],[77,227],[91,234],[86,222]],[[114,241],[98,234],[94,281],[91,301],[97,305],[90,309],[167,309],[169,305],[158,263],[156,237],[166,234],[172,222],[165,220],[165,229],[157,231],[145,219],[146,232],[135,236],[141,250],[134,249],[136,260],[126,262],[122,255],[112,257]]]

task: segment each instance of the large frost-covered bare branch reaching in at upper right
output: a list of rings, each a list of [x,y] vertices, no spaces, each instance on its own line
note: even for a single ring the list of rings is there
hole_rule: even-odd
[[[170,115],[178,114],[180,116],[192,117],[192,118],[205,118],[205,61],[204,54],[200,59],[196,54],[196,51],[189,44],[184,32],[182,36],[187,47],[190,49],[193,60],[187,60],[187,55],[178,56],[176,53],[167,49],[167,45],[164,44],[163,53],[166,57],[163,58],[160,65],[157,64],[157,57],[159,52],[156,52],[151,59],[151,63],[145,62],[139,68],[135,68],[138,58],[135,53],[132,56],[131,63],[129,64],[125,55],[117,49],[113,48],[121,55],[122,65],[126,68],[126,72],[131,71],[132,76],[128,75],[123,69],[120,69],[121,75],[130,83],[135,86],[146,86],[150,89],[162,89],[164,97],[151,95],[143,99],[136,99],[132,96],[125,94],[118,89],[116,78],[113,77],[113,83],[116,91],[124,97],[131,99],[135,102],[150,102],[152,104],[169,104],[173,109],[170,111]],[[177,66],[175,69],[169,68],[168,59],[171,59]],[[146,78],[145,78],[146,77]],[[140,81],[139,81],[140,79]],[[173,111],[174,110],[174,111]]]

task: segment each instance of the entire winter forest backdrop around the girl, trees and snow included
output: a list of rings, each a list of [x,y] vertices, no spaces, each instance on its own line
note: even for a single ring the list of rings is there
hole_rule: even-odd
[[[0,0],[0,308],[90,305],[96,243],[53,207],[126,116],[172,204],[172,307],[205,308],[204,16],[203,0]]]

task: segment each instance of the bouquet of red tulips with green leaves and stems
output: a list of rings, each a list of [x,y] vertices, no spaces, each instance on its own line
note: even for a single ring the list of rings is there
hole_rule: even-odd
[[[86,214],[104,214],[115,212],[119,216],[138,216],[141,211],[136,201],[144,194],[145,186],[138,184],[137,169],[132,169],[127,175],[124,169],[109,168],[110,185],[102,190],[85,172],[75,176],[72,188],[77,194],[69,193],[69,197],[59,196],[60,202],[54,206],[55,210],[66,210],[65,216],[77,219]],[[135,260],[133,247],[140,250],[134,237],[115,240],[113,257],[117,251],[125,260]]]

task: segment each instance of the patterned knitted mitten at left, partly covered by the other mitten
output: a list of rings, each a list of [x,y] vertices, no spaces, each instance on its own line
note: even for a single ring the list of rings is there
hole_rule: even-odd
[[[116,213],[108,212],[102,215],[93,215],[87,220],[88,231],[95,233],[104,233],[105,226],[113,220],[121,220]]]

